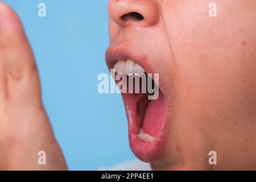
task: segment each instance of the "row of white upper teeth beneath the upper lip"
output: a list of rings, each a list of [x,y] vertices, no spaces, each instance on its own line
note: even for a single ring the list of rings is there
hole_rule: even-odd
[[[131,75],[142,75],[145,73],[144,69],[139,65],[134,63],[133,60],[118,60],[114,65],[115,72],[117,74],[125,74],[127,76]]]

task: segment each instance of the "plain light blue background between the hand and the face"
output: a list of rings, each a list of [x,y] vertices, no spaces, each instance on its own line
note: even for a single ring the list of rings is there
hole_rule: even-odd
[[[5,0],[19,14],[42,82],[43,102],[71,170],[135,159],[119,94],[98,94],[108,73],[107,0]],[[46,3],[46,17],[38,4]]]

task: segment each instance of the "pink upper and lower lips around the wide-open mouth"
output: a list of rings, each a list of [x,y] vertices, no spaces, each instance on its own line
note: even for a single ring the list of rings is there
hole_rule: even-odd
[[[108,68],[112,69],[116,61],[121,59],[134,60],[135,63],[141,65],[147,73],[154,73],[154,70],[148,64],[146,53],[143,54],[142,52],[138,52],[130,47],[127,47],[127,45],[125,44],[115,45],[113,43],[106,51],[106,63],[108,65]],[[136,122],[138,118],[136,117],[135,114],[129,114],[129,112],[136,113],[136,105],[134,104],[133,101],[127,100],[126,95],[127,94],[122,94],[122,97],[126,106],[126,114],[129,123],[129,141],[131,150],[139,159],[141,159],[144,162],[156,162],[163,155],[167,145],[167,119],[166,117],[164,117],[164,121],[162,123],[162,126],[160,127],[160,131],[156,135],[154,142],[143,142],[141,139],[137,137],[139,129],[136,125]],[[129,108],[129,110],[127,108]],[[129,115],[131,115],[131,117],[129,117]],[[131,124],[132,122],[135,124]]]

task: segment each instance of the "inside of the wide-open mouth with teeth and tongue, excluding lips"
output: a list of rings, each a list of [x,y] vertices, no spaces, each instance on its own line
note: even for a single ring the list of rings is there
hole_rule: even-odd
[[[166,102],[158,82],[155,82],[154,76],[149,76],[141,65],[130,59],[118,60],[114,69],[116,74],[126,76],[124,84],[127,90],[132,86],[129,93],[123,93],[130,121],[129,129],[143,142],[154,142],[166,111]],[[120,86],[121,90],[122,86]],[[149,92],[148,88],[154,89],[154,93]],[[139,92],[136,92],[136,89]],[[158,92],[157,97],[151,100],[149,96],[154,96],[155,92]],[[131,108],[135,109],[134,113],[131,113]]]

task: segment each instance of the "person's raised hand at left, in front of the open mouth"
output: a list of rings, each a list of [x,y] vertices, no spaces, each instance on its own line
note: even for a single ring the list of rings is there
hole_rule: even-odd
[[[46,165],[38,152],[46,152]],[[0,3],[0,169],[67,169],[46,111],[34,56],[18,16]]]

